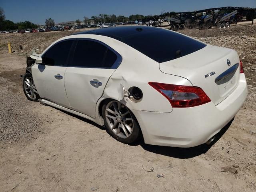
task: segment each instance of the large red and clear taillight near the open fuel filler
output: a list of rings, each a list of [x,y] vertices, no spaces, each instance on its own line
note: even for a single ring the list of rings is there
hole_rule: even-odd
[[[172,107],[194,107],[211,101],[200,87],[156,82],[149,82],[148,84],[165,96]]]

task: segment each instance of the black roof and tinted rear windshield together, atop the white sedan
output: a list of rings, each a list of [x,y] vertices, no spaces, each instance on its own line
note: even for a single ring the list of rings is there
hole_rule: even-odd
[[[180,33],[158,27],[110,27],[76,34],[95,34],[114,38],[159,63],[188,55],[206,46]]]

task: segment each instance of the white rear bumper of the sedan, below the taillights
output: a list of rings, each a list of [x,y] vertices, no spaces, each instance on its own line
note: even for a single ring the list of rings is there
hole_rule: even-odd
[[[232,120],[247,97],[244,74],[237,88],[218,105],[212,102],[170,113],[132,110],[146,144],[193,147],[206,143]]]

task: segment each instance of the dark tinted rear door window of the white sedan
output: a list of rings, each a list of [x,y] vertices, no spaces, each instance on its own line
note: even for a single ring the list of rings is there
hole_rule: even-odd
[[[117,56],[103,44],[90,40],[78,40],[72,66],[111,68]]]

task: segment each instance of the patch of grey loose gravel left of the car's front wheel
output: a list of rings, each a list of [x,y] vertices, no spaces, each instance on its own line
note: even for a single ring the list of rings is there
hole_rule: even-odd
[[[28,104],[24,95],[10,89],[20,86],[19,84],[0,77],[0,85],[0,141],[10,143],[20,138],[36,138],[43,123],[31,108],[38,103]]]

